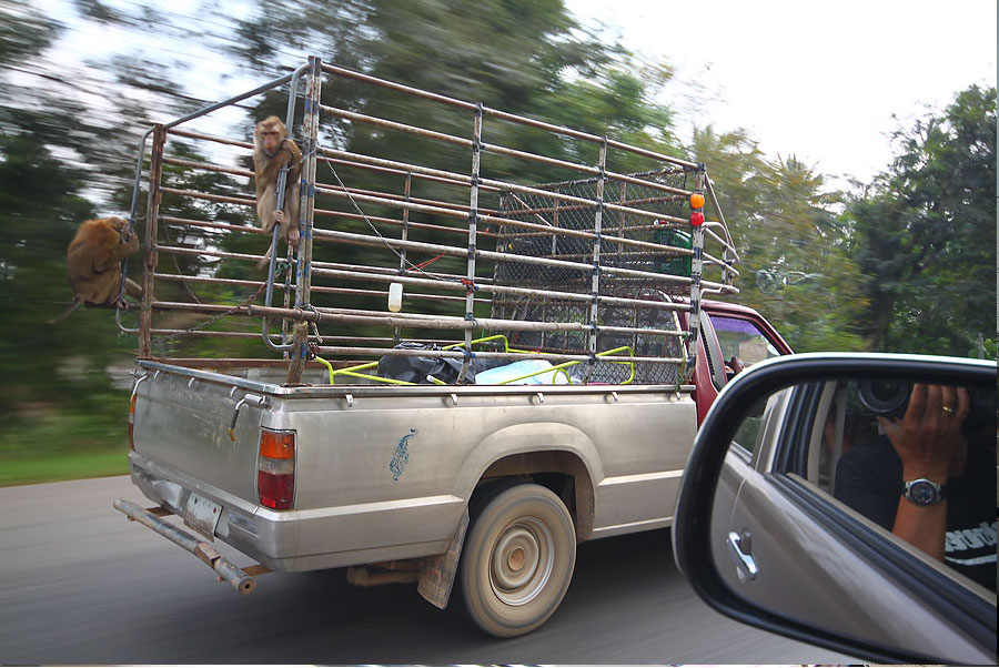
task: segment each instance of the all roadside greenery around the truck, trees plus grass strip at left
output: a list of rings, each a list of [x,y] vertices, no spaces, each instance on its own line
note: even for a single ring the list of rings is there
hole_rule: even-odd
[[[739,301],[795,350],[996,356],[993,88],[956,91],[946,109],[899,128],[891,164],[841,192],[794,155],[763,154],[740,129],[704,121],[685,144],[674,128],[692,119],[654,101],[670,85],[668,64],[597,41],[562,0],[245,6],[243,19],[206,8],[193,19],[165,3],[118,9],[78,0],[65,3],[63,20],[0,0],[0,485],[125,472],[129,378],[109,368],[128,368],[134,337],[119,334],[109,311],[81,308],[58,326],[46,321],[69,303],[63,263],[75,226],[128,211],[145,128],[212,101],[184,83],[191,63],[182,54],[195,43],[231,63],[226,75],[250,82],[315,52],[410,85],[694,155],[709,165],[739,244]],[[61,40],[83,30],[155,40],[128,59],[53,57]],[[423,121],[418,107],[381,109],[350,87],[324,95]],[[252,119],[282,104],[274,97],[245,109],[238,132],[249,135]],[[347,150],[377,141],[350,126],[335,132]],[[516,148],[532,141],[503,139]],[[407,159],[405,145],[396,153]],[[467,156],[454,160],[466,169]],[[232,185],[219,179],[218,188]],[[248,215],[233,213],[231,222]],[[239,355],[248,345],[188,340],[159,352]]]

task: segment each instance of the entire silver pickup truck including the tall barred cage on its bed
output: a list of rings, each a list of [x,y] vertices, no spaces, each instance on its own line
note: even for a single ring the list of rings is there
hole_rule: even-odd
[[[323,75],[468,112],[472,139],[324,105]],[[183,180],[184,170],[250,173],[165,149],[168,138],[249,149],[179,128],[225,104],[149,133],[144,296],[134,328],[123,322],[129,308],[118,317],[139,337],[131,476],[154,505],[114,505],[242,593],[269,570],[349,567],[354,584],[417,583],[444,608],[457,581],[483,630],[527,632],[565,595],[578,543],[669,526],[697,425],[720,387],[744,364],[790,350],[756,312],[703,298],[705,291],[737,292],[737,254],[704,165],[314,58],[229,102],[290,82],[292,128],[302,77],[302,242],[280,266],[271,253],[266,282],[245,279],[244,266],[261,260],[245,252],[255,229],[222,222],[233,206],[252,208],[252,198],[196,192]],[[467,146],[472,175],[323,149],[320,112]],[[485,178],[491,154],[573,165],[482,142],[483,122],[493,118],[591,142],[598,164],[575,165],[584,172],[576,181]],[[613,172],[607,165],[618,153],[649,169]],[[144,159],[143,149],[137,200]],[[316,180],[317,164],[333,170],[333,183]],[[365,169],[383,184],[386,174],[397,179],[400,191],[349,184]],[[422,180],[431,184],[424,193]],[[471,199],[440,200],[442,183]],[[705,220],[706,198],[719,220]],[[386,214],[393,209],[401,217]],[[421,221],[411,220],[416,215]],[[320,229],[320,216],[332,222]],[[367,233],[359,233],[364,223]],[[393,225],[400,234],[390,234]],[[455,234],[463,245],[442,243]],[[226,245],[240,236],[242,245]],[[167,254],[178,273],[160,269]],[[192,257],[212,264],[184,274],[176,259]],[[450,267],[432,271],[441,257]],[[465,264],[461,273],[455,259]],[[181,283],[189,295],[205,284],[256,293],[238,304],[153,296],[153,287],[169,297]],[[282,291],[283,306],[274,303]],[[372,305],[386,294],[387,311]],[[190,325],[194,314],[209,321]],[[250,321],[262,331],[241,326]],[[278,322],[280,334],[272,333]],[[473,330],[493,334],[473,340]],[[450,336],[455,331],[463,338]],[[219,346],[255,338],[280,356],[170,356],[196,336]],[[402,340],[415,343],[397,345]],[[483,361],[493,367],[488,383],[476,366]],[[438,367],[418,367],[425,362]],[[511,372],[518,363],[544,366]],[[391,371],[400,364],[420,371],[404,379]],[[495,379],[497,370],[504,379]],[[236,566],[215,540],[258,564]]]

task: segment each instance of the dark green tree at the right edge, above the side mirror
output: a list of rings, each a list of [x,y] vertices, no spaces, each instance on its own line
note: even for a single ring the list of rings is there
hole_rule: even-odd
[[[996,315],[996,89],[972,85],[896,133],[895,162],[854,198],[872,350],[978,354]]]

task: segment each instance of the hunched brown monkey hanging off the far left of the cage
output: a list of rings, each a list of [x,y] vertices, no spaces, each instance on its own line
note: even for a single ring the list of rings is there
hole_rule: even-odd
[[[130,234],[123,217],[84,221],[65,251],[65,277],[73,303],[50,324],[65,320],[81,304],[114,306],[121,290],[121,261],[139,250],[139,235]],[[125,279],[125,292],[142,298],[142,287]]]

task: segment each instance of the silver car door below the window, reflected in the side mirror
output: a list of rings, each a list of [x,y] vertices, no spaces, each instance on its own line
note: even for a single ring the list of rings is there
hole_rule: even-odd
[[[726,462],[726,467],[730,464]],[[868,555],[828,532],[801,507],[786,476],[744,472],[727,526],[713,535],[751,536],[749,551],[758,573],[737,575],[728,549],[715,549],[718,571],[739,596],[774,611],[858,638],[881,638],[926,656],[960,657],[968,664],[993,662],[995,654],[975,650],[946,610],[928,606],[918,595],[875,567]],[[724,475],[724,473],[723,473]],[[784,477],[783,484],[776,478]],[[810,494],[800,489],[801,494]],[[722,545],[716,542],[714,545]],[[919,629],[935,628],[932,635]],[[891,642],[894,640],[894,642]]]

